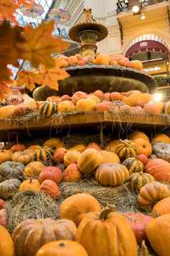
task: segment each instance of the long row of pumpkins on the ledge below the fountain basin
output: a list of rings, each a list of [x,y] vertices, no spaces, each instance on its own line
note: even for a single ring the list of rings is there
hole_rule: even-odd
[[[54,114],[66,114],[75,112],[111,112],[117,115],[170,115],[170,101],[166,103],[156,102],[149,93],[141,93],[139,90],[131,90],[127,93],[103,93],[96,90],[94,93],[78,91],[69,95],[51,96],[46,101],[34,101],[19,105],[7,105],[0,108],[0,119],[19,118],[29,113],[40,114],[48,117]]]

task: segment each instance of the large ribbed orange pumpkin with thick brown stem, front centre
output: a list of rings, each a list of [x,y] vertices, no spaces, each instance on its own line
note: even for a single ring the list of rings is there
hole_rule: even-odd
[[[136,238],[130,224],[111,209],[84,218],[77,229],[76,241],[90,256],[137,256]]]

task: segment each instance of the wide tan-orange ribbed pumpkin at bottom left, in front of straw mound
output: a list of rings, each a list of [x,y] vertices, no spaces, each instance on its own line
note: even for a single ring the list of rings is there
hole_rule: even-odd
[[[42,245],[61,239],[75,240],[75,234],[75,224],[67,219],[26,219],[16,227],[12,238],[17,256],[35,256]]]

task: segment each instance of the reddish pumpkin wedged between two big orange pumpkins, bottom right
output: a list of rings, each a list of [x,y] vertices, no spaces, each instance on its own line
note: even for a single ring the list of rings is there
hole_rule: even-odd
[[[123,215],[134,231],[138,245],[141,245],[141,242],[146,240],[146,227],[153,218],[141,212],[125,212]]]

